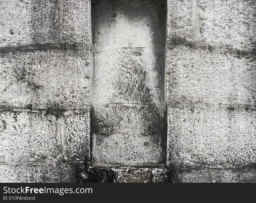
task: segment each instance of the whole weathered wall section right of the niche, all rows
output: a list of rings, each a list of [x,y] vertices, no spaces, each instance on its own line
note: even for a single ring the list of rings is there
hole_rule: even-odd
[[[168,0],[172,182],[255,181],[255,1]]]

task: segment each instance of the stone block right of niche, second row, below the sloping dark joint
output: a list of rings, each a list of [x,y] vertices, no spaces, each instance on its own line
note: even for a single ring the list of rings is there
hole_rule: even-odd
[[[168,46],[167,103],[256,104],[255,57]]]

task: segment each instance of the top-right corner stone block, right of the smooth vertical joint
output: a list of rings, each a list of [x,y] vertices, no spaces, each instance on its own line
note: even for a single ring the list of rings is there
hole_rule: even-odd
[[[242,50],[256,50],[254,0],[200,0],[201,40]]]

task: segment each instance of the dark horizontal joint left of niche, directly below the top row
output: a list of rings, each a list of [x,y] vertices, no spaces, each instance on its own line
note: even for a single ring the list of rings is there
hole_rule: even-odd
[[[43,48],[67,48],[65,46],[91,46],[90,44],[79,44],[79,43],[64,43],[64,44],[29,44],[24,46],[10,46],[0,48],[0,52],[9,52],[9,51],[29,51],[29,50],[41,50]]]

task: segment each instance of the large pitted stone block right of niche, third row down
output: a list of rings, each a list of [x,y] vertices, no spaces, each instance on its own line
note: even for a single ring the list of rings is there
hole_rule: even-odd
[[[256,163],[255,109],[168,105],[171,167],[238,167]]]

